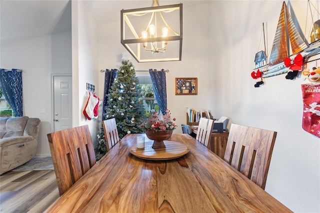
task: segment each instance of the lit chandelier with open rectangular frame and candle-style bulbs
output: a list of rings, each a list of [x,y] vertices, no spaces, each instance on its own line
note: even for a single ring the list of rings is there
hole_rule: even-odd
[[[122,9],[121,43],[137,62],[181,60],[182,3]]]

